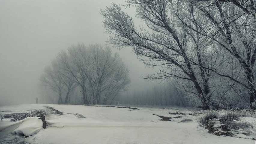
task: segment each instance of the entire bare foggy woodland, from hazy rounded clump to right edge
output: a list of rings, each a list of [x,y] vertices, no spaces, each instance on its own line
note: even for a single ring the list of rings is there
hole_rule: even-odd
[[[127,0],[101,9],[107,44],[132,49],[158,84],[129,90],[129,70],[100,44],[72,45],[40,77],[41,103],[255,109],[255,2]],[[253,7],[254,6],[254,7]],[[122,9],[136,7],[134,18]]]

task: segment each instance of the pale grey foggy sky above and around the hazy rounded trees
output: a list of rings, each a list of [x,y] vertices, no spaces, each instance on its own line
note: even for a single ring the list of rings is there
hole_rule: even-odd
[[[125,4],[121,0],[1,0],[0,105],[35,103],[40,95],[38,79],[60,50],[78,42],[106,44],[108,35],[104,33],[100,8],[110,6],[111,2]],[[135,8],[125,12],[134,16]],[[146,68],[131,53],[131,48],[112,50],[128,65],[131,91],[152,86],[154,82],[140,76],[154,73],[156,68]]]

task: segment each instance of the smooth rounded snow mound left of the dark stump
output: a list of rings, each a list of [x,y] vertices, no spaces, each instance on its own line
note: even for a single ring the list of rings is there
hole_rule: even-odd
[[[24,134],[29,137],[37,134],[41,129],[43,129],[43,121],[38,119],[38,117],[29,117],[23,119],[23,123],[21,123],[13,132],[18,135]]]

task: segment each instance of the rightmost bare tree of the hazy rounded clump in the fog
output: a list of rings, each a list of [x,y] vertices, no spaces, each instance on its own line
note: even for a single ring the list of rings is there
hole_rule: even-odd
[[[126,90],[130,84],[129,70],[122,62],[119,54],[114,53],[109,46],[103,48],[99,44],[88,47],[90,58],[90,69],[86,75],[89,78],[93,95],[93,104],[100,103],[101,94],[104,93],[105,102],[110,95],[115,98],[119,91]],[[111,103],[110,103],[111,104]]]

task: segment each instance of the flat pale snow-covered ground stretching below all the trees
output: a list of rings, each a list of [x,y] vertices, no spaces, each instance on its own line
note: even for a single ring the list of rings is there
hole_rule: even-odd
[[[137,107],[131,110],[113,107],[89,107],[80,105],[20,105],[0,107],[0,113],[18,113],[29,109],[39,109],[50,106],[64,113],[80,113],[86,118],[73,115],[47,118],[46,129],[36,131],[37,134],[21,139],[21,143],[33,144],[254,144],[255,140],[222,137],[208,134],[207,130],[198,126],[199,116],[180,115],[173,118],[171,109]],[[9,111],[8,111],[9,110]],[[17,110],[17,111],[16,111]],[[5,112],[8,111],[8,112]],[[185,112],[185,111],[184,111]],[[186,113],[189,111],[187,110]],[[160,116],[172,117],[172,121],[160,121]],[[192,119],[193,122],[179,123],[182,119]],[[15,122],[0,122],[0,142],[17,138],[11,134],[17,126],[10,127]],[[39,125],[37,122],[36,126]],[[7,129],[7,126],[9,126]],[[2,129],[1,129],[2,128]],[[36,129],[36,127],[35,127]],[[1,131],[2,130],[2,131]],[[37,129],[36,129],[37,130]]]

